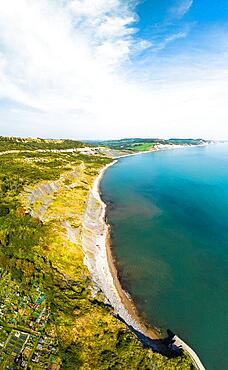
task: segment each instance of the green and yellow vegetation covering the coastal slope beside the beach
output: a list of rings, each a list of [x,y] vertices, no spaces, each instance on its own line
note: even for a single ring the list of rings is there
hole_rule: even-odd
[[[0,156],[0,341],[1,335],[9,338],[0,343],[0,368],[9,359],[9,343],[13,351],[18,335],[25,345],[27,333],[22,358],[9,355],[11,368],[23,360],[30,369],[193,369],[186,355],[168,359],[144,348],[94,291],[83,264],[86,199],[110,159],[25,152],[28,145],[50,149],[53,143],[44,140],[1,142],[5,151],[14,144],[21,151]],[[44,350],[37,349],[41,339]]]

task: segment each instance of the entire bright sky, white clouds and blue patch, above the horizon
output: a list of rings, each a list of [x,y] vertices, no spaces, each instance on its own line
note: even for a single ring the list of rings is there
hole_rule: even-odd
[[[0,0],[0,135],[228,139],[226,0]]]

